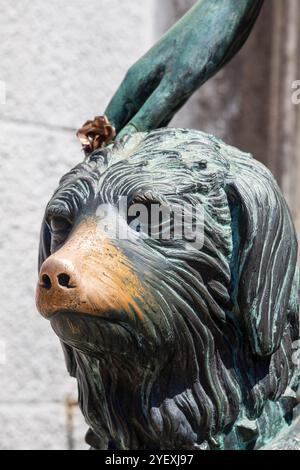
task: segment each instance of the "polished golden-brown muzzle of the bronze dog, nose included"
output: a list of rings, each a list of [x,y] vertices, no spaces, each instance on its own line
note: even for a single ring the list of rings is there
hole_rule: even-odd
[[[59,285],[57,276],[70,276],[68,288]],[[43,275],[51,279],[51,288],[43,287]],[[42,265],[36,302],[40,313],[50,317],[58,310],[71,310],[101,316],[109,310],[132,316],[143,313],[136,299],[143,299],[143,286],[129,260],[97,227],[96,219],[82,222],[65,245]]]

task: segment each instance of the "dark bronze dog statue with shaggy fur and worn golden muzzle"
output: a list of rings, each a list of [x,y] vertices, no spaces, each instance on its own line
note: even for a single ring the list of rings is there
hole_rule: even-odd
[[[124,196],[200,204],[202,246],[134,224],[112,239],[97,209],[121,219]],[[296,260],[270,172],[213,136],[136,134],[65,175],[42,225],[37,306],[77,378],[92,447],[251,449],[290,423]]]

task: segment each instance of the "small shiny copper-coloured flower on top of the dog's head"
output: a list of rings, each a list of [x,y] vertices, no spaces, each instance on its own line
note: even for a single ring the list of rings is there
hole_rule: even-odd
[[[106,116],[96,116],[93,121],[87,121],[76,135],[84,151],[90,153],[109,144],[116,137],[116,130]]]

